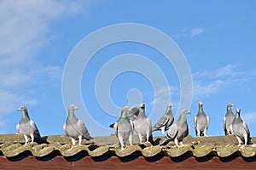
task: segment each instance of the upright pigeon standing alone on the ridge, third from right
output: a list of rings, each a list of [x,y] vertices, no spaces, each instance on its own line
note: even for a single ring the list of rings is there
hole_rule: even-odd
[[[194,118],[195,123],[195,134],[197,137],[199,136],[207,136],[207,128],[209,127],[210,119],[203,110],[202,102],[199,102],[198,113]]]

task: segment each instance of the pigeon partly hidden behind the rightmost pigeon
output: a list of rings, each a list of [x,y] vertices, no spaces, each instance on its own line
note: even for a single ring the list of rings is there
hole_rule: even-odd
[[[224,126],[224,133],[225,135],[230,135],[232,134],[231,131],[230,131],[230,125],[232,124],[233,120],[234,120],[234,113],[232,111],[232,106],[233,104],[229,103],[227,105],[227,113],[226,115],[224,116],[224,119],[223,119],[223,126]]]

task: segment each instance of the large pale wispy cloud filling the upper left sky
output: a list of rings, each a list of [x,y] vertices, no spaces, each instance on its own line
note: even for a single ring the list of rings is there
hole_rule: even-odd
[[[86,7],[85,1],[0,1],[1,115],[20,103],[37,104],[32,85],[61,77],[60,66],[42,65],[35,56],[49,42],[52,22],[84,13]]]

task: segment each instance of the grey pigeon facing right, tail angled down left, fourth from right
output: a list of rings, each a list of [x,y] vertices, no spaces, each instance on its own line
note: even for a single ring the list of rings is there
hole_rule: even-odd
[[[166,144],[169,140],[174,139],[174,143],[178,148],[183,146],[183,139],[189,134],[189,125],[187,123],[187,115],[190,113],[189,110],[183,109],[177,122],[172,125],[167,131],[166,137],[163,139],[162,144]]]

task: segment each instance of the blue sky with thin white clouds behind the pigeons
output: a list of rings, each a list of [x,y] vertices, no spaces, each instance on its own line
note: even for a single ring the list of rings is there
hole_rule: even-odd
[[[68,96],[63,98],[61,82],[75,48],[84,38],[106,26],[135,23],[172,38],[189,65],[193,80],[189,134],[195,136],[193,119],[198,102],[202,101],[210,116],[208,135],[224,135],[223,116],[226,105],[232,102],[233,111],[241,108],[241,117],[255,136],[255,7],[253,0],[210,3],[3,0],[0,2],[0,133],[16,133],[20,105],[27,106],[42,135],[64,133],[67,106],[63,99]],[[102,40],[91,44],[99,41]],[[83,53],[89,50],[90,46],[86,46]],[[125,59],[130,60],[122,62]],[[106,76],[109,68],[118,71],[113,72],[112,79]],[[76,74],[75,66],[71,74]],[[166,83],[162,84],[161,77],[157,81],[159,74],[166,78]],[[84,105],[73,103],[78,105],[77,116],[91,135],[108,135],[112,131],[108,125],[118,119],[124,105],[145,103],[146,113],[154,124],[171,101],[177,120],[177,108],[183,102],[177,75],[176,66],[155,48],[138,42],[116,42],[96,51],[84,65],[79,75],[80,89],[66,90],[70,93],[79,90]],[[104,83],[101,76],[109,83]],[[160,84],[155,84],[155,77]]]

